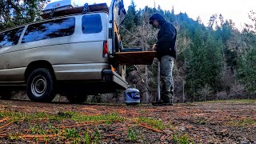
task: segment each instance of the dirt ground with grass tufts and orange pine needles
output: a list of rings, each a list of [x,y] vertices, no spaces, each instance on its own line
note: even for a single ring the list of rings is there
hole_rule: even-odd
[[[174,106],[0,100],[0,113],[0,143],[256,143],[256,100]]]

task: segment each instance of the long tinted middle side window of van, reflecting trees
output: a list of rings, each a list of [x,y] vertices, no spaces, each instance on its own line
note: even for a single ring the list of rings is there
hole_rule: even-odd
[[[74,23],[73,17],[32,24],[27,27],[22,43],[70,36],[74,34]]]

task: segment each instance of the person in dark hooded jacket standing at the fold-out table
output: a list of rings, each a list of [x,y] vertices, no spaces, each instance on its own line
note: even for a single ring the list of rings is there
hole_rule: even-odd
[[[177,30],[161,14],[152,14],[150,25],[157,29],[158,42],[154,44],[153,50],[157,51],[156,57],[160,62],[160,75],[162,80],[162,91],[160,100],[152,102],[154,106],[172,106],[172,96],[174,95],[173,68],[176,58],[176,36]]]

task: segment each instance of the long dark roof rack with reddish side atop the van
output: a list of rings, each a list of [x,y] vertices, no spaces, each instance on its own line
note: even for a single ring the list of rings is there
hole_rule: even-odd
[[[88,5],[86,3],[84,6],[62,6],[56,8],[55,6],[52,7],[52,9],[43,10],[43,14],[41,14],[41,17],[43,19],[46,18],[54,18],[54,17],[60,17],[70,14],[86,14],[87,12],[96,12],[96,11],[105,11],[106,13],[109,13],[109,8],[106,3],[98,3],[94,5]]]

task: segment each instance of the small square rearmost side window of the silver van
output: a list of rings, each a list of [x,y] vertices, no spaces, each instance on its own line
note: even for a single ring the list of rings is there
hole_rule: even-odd
[[[82,33],[94,34],[102,31],[102,18],[100,14],[84,15],[82,17]]]

